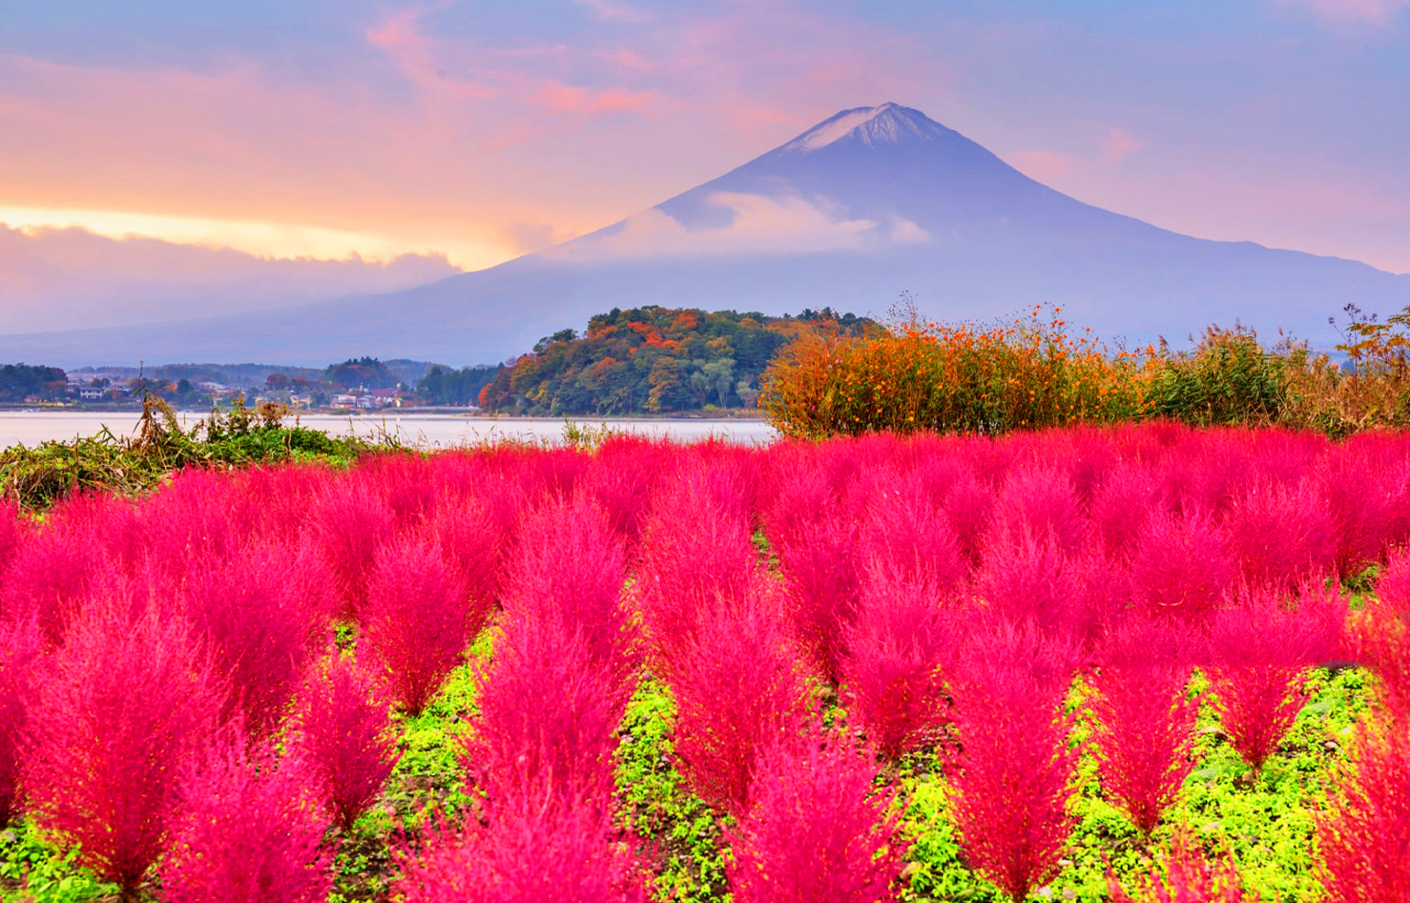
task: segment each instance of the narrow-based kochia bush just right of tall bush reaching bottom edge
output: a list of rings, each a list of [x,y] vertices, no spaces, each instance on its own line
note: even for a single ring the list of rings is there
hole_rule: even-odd
[[[1149,616],[1120,618],[1091,678],[1101,786],[1145,834],[1194,768],[1200,704],[1184,690],[1191,665],[1182,647],[1180,634]]]

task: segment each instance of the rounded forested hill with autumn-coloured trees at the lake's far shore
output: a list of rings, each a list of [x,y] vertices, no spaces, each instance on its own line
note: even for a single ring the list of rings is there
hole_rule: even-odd
[[[878,328],[830,309],[792,317],[732,310],[613,309],[564,330],[499,370],[479,393],[506,414],[667,414],[754,407],[759,375],[780,347],[805,331],[860,335]]]

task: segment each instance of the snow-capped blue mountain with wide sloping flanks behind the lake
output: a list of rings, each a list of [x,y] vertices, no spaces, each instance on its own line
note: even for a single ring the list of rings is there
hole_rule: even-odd
[[[1410,276],[1101,210],[887,103],[845,110],[650,210],[491,269],[255,317],[6,335],[0,359],[488,362],[613,307],[884,314],[901,292],[932,320],[1048,303],[1136,344],[1235,318],[1330,344],[1328,316],[1348,301],[1399,310]]]

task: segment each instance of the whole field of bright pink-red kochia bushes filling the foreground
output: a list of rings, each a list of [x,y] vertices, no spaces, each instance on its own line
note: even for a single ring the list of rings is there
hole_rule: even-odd
[[[1194,668],[1259,769],[1308,672],[1349,658],[1376,706],[1318,878],[1335,903],[1410,899],[1407,538],[1410,438],[1389,434],[622,438],[189,472],[0,518],[0,821],[130,896],[155,875],[173,902],[323,900],[396,762],[389,710],[424,709],[492,628],[472,803],[399,847],[407,902],[646,899],[651,838],[620,827],[613,768],[647,671],[675,766],[732,817],[735,900],[895,899],[902,800],[877,776],[925,747],[964,859],[1021,900],[1073,828],[1074,680],[1101,790],[1149,834],[1193,766]],[[1379,600],[1349,611],[1338,579],[1376,562]],[[823,727],[829,686],[846,717]],[[1112,895],[1239,899],[1203,855],[1177,834]]]

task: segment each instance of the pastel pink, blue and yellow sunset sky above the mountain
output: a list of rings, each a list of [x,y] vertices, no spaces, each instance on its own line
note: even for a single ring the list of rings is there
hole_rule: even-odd
[[[1156,225],[1410,272],[1410,0],[7,6],[10,331],[266,258],[306,294],[491,266],[888,100]]]

